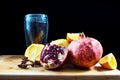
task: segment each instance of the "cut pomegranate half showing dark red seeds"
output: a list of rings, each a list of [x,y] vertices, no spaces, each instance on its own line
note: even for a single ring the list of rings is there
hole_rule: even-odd
[[[59,69],[66,62],[67,56],[67,47],[46,44],[41,52],[40,63],[45,69]]]

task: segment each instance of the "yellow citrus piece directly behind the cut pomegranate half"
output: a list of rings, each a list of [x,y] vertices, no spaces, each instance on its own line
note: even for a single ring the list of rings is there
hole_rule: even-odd
[[[68,46],[69,42],[66,39],[57,39],[50,42],[50,44],[56,44],[58,46]]]

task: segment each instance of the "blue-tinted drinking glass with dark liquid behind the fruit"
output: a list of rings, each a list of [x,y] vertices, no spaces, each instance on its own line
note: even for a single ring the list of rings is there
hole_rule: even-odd
[[[26,46],[28,47],[31,43],[46,44],[48,27],[46,14],[26,14],[24,18]]]

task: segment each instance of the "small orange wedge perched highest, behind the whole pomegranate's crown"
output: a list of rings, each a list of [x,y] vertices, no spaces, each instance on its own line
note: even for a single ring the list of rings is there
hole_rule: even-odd
[[[73,40],[78,40],[80,38],[81,33],[67,33],[66,39],[68,42],[71,42]]]

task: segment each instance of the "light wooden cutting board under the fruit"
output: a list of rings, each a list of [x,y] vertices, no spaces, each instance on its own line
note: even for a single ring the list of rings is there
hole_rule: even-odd
[[[45,70],[43,67],[21,69],[23,55],[0,55],[0,80],[120,80],[119,70],[103,69],[96,64],[90,69],[78,69],[70,64],[61,70]]]

